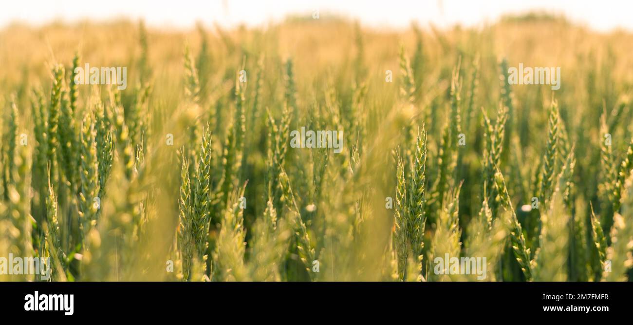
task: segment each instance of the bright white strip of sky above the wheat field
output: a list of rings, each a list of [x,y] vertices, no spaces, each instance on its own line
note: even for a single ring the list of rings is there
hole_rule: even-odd
[[[62,20],[144,18],[156,27],[192,27],[197,21],[232,27],[262,25],[292,13],[319,10],[360,20],[372,27],[408,27],[411,21],[446,27],[494,22],[504,13],[546,10],[598,30],[633,30],[628,0],[1,0],[0,27],[14,21],[36,25]]]

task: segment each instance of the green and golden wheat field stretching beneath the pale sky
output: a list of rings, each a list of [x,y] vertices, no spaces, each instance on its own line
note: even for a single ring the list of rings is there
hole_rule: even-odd
[[[0,258],[0,279],[629,281],[630,53],[633,34],[550,15],[14,23],[0,257],[52,276]],[[509,84],[520,63],[560,67],[560,89]],[[86,64],[126,67],[127,87],[79,84]],[[339,132],[310,148],[304,130]]]

